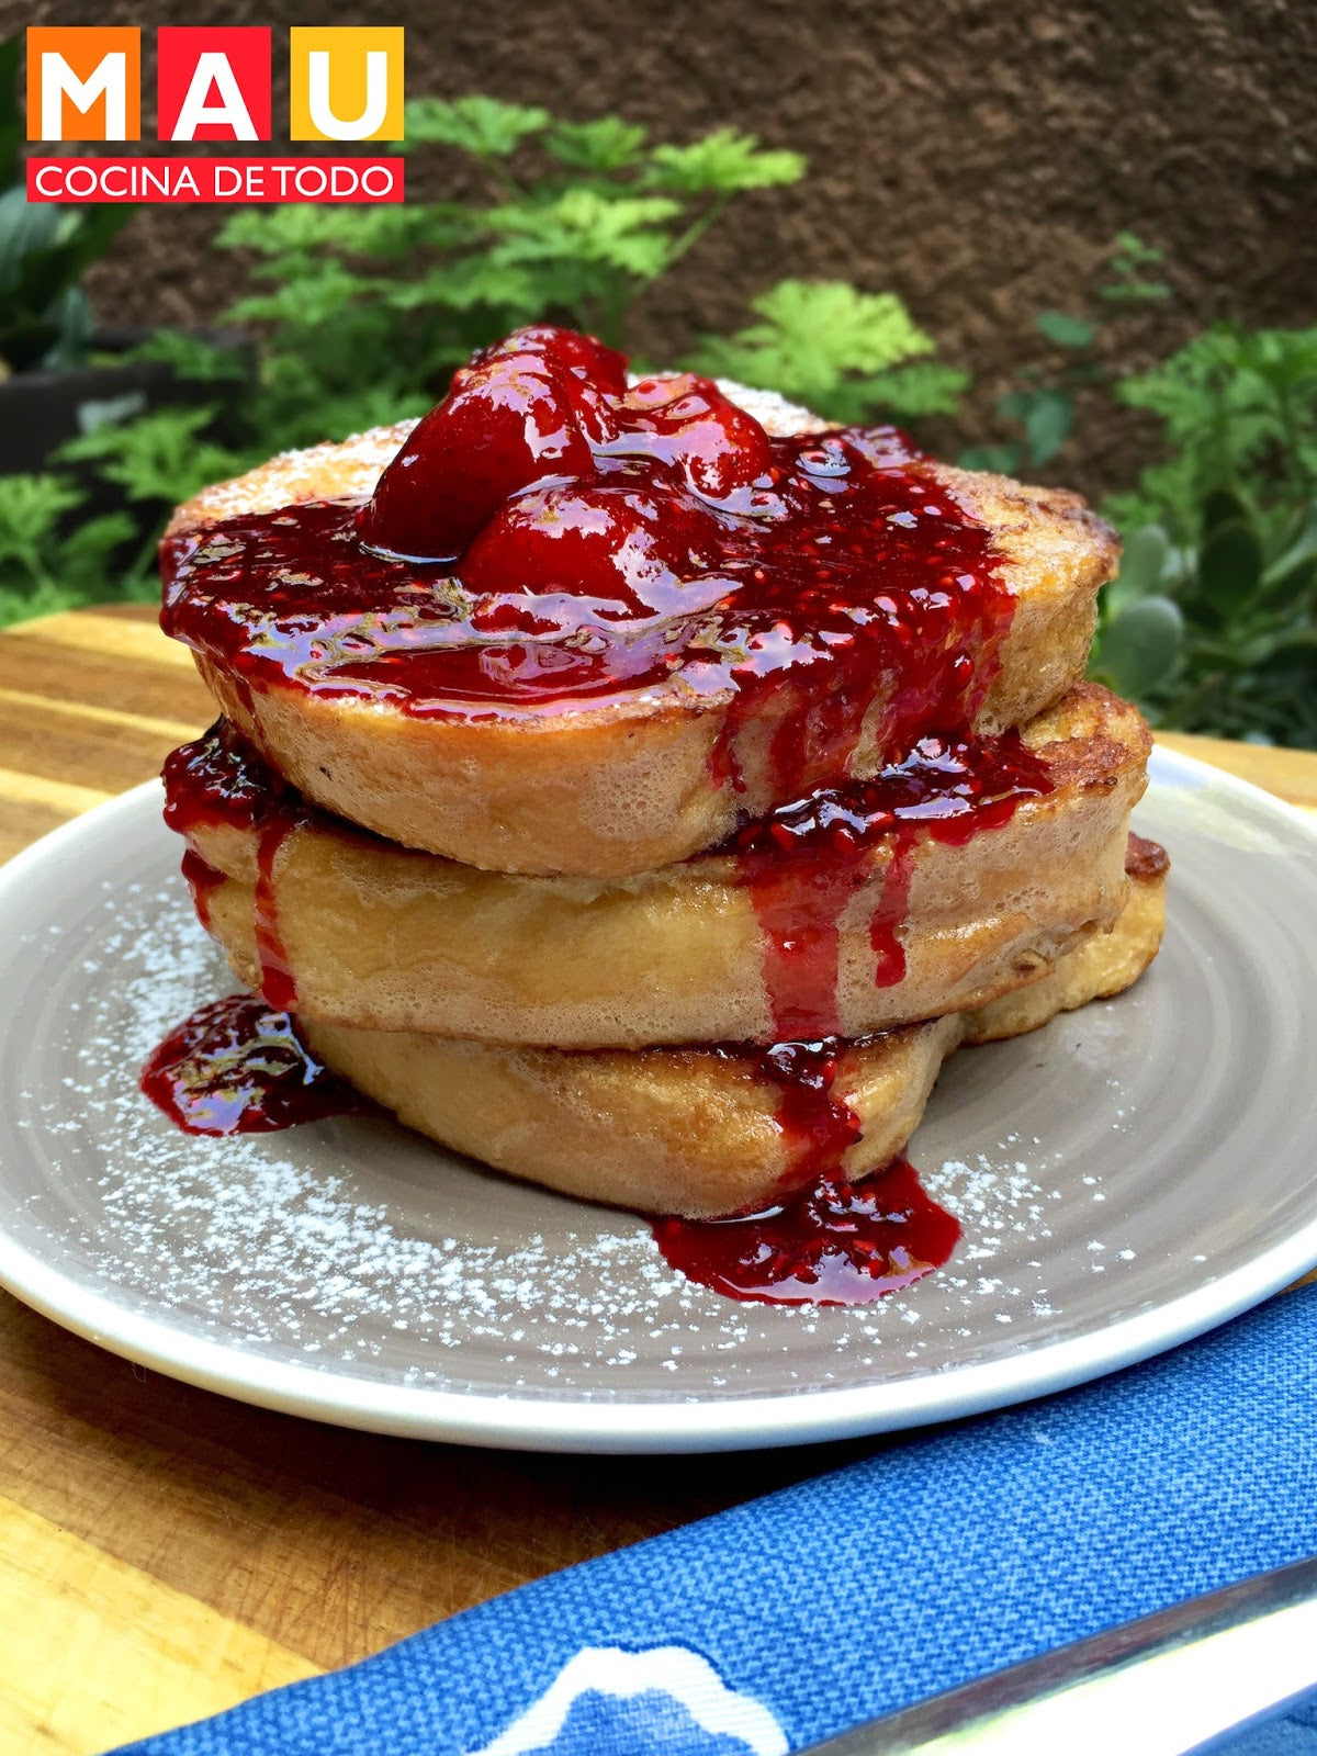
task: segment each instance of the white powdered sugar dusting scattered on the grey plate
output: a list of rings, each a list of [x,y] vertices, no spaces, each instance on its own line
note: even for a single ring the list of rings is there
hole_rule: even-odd
[[[1045,1263],[1062,1191],[1038,1141],[941,1164],[915,1150],[961,1247],[908,1292],[836,1310],[722,1299],[669,1270],[639,1217],[513,1184],[383,1117],[179,1133],[137,1071],[232,978],[169,876],[172,852],[153,848],[153,882],[93,887],[86,917],[42,945],[47,1041],[16,1117],[40,1161],[25,1212],[97,1291],[311,1371],[627,1401],[945,1370],[948,1331],[992,1326],[1022,1347],[1055,1315]]]

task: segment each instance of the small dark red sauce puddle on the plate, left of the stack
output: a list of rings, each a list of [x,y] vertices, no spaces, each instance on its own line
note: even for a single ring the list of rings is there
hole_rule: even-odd
[[[288,1013],[253,994],[184,1018],[142,1068],[140,1087],[186,1134],[270,1134],[362,1108]]]

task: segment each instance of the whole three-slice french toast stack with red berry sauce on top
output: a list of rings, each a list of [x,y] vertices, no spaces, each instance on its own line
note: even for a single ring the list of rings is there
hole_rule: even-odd
[[[1164,857],[1082,681],[1112,532],[537,327],[181,507],[198,913],[411,1126],[650,1213],[887,1164],[946,1054],[1129,985]]]

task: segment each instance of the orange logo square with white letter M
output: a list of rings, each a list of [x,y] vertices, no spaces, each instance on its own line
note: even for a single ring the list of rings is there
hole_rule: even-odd
[[[142,33],[28,30],[28,140],[140,140]]]

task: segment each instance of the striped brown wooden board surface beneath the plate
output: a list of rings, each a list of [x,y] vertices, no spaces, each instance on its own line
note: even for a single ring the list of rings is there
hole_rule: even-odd
[[[153,611],[0,636],[0,859],[212,718]],[[1317,755],[1168,738],[1317,810]],[[91,1756],[871,1450],[541,1457],[346,1433],[0,1294],[0,1751]]]

